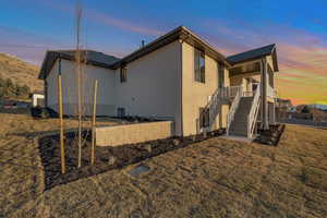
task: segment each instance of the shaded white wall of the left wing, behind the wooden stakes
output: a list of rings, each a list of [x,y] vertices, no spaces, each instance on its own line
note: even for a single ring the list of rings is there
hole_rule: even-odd
[[[97,114],[112,116],[116,113],[114,71],[89,64],[82,66],[83,113],[90,114],[94,95],[94,82],[98,80]],[[48,107],[58,108],[58,74],[59,61],[55,63],[47,80]],[[65,114],[77,114],[77,74],[75,63],[61,60],[63,111]]]

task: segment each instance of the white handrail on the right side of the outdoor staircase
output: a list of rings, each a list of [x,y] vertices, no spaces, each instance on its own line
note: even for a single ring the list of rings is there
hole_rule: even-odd
[[[254,128],[256,124],[256,117],[259,108],[259,97],[261,97],[261,84],[257,86],[252,105],[251,110],[247,116],[247,137],[252,138]]]

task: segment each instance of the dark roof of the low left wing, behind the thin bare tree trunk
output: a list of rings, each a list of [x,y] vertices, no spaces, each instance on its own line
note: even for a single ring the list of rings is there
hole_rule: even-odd
[[[40,73],[38,78],[46,78],[56,63],[57,59],[65,59],[65,60],[74,60],[75,59],[75,50],[49,50],[46,53],[46,58],[43,62]],[[108,56],[102,52],[93,51],[93,50],[82,50],[81,58],[86,59],[86,63],[112,69],[112,64],[119,61],[119,58],[113,56]]]

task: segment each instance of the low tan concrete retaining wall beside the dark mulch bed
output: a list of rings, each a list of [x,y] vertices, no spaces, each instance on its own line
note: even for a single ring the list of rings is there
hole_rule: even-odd
[[[96,129],[97,146],[119,146],[167,138],[174,134],[173,122],[148,122]]]

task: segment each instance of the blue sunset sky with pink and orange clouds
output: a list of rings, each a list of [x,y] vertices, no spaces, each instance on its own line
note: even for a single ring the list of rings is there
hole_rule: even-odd
[[[327,0],[81,1],[84,48],[124,57],[180,25],[225,56],[276,44],[278,95],[327,105]],[[0,0],[0,52],[40,65],[73,48],[75,2]]]

